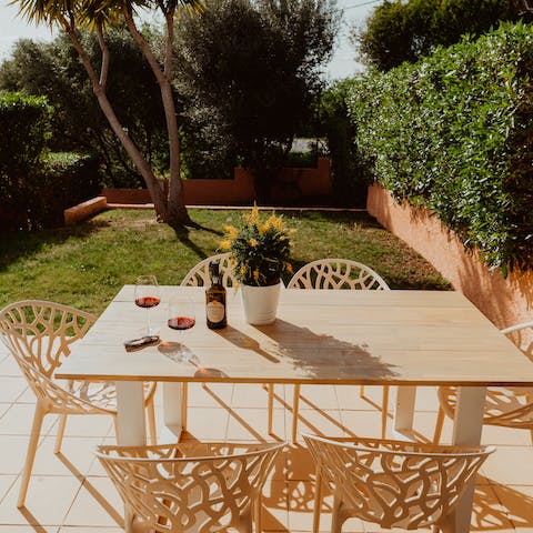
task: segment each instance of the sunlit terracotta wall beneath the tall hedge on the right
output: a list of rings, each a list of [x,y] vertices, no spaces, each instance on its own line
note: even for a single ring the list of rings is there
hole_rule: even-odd
[[[421,253],[497,328],[533,321],[533,271],[506,279],[490,270],[477,254],[465,252],[461,241],[428,211],[399,205],[381,187],[369,188],[369,213]]]

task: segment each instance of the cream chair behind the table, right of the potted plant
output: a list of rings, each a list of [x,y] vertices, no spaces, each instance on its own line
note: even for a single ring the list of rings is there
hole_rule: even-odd
[[[350,259],[319,259],[302,266],[291,279],[288,289],[350,289],[364,291],[388,291],[389,285],[378,272]],[[361,385],[360,394],[364,394]],[[294,385],[292,402],[292,442],[296,440],[300,385]],[[389,405],[389,386],[383,386],[381,408],[381,436],[385,436]],[[273,392],[269,390],[269,413],[273,409]],[[272,418],[269,418],[269,432]]]

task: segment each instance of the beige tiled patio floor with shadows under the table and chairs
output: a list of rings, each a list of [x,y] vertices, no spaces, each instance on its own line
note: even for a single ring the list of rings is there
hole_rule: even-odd
[[[300,430],[379,436],[380,389],[368,388],[366,399],[360,399],[359,388],[354,386],[304,386],[302,395]],[[260,385],[191,385],[185,436],[215,441],[285,440],[291,425],[291,412],[283,409],[285,398],[292,398],[291,388],[276,386],[275,434],[269,436],[266,392]],[[415,429],[422,439],[432,435],[436,406],[433,389],[419,390]],[[17,509],[32,415],[32,394],[0,344],[0,533],[122,531],[121,501],[92,454],[95,445],[114,441],[112,422],[107,416],[71,416],[58,455],[52,452],[57,420],[46,420],[27,506]],[[449,436],[446,421],[444,439]],[[496,444],[497,451],[477,480],[472,531],[533,532],[533,447],[529,432],[485,428],[483,442]],[[265,487],[265,531],[311,530],[312,472],[305,449],[291,446]],[[321,531],[329,531],[329,524],[330,515],[324,513]],[[344,527],[346,533],[378,530],[355,520]]]

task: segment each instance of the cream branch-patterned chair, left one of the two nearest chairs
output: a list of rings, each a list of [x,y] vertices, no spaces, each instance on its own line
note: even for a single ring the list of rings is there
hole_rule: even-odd
[[[285,444],[99,446],[134,531],[261,531],[261,492]]]

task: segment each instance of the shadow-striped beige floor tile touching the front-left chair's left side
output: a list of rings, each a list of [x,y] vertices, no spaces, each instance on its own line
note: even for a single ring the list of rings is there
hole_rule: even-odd
[[[87,477],[63,525],[117,527],[123,523],[123,504],[108,477]]]

